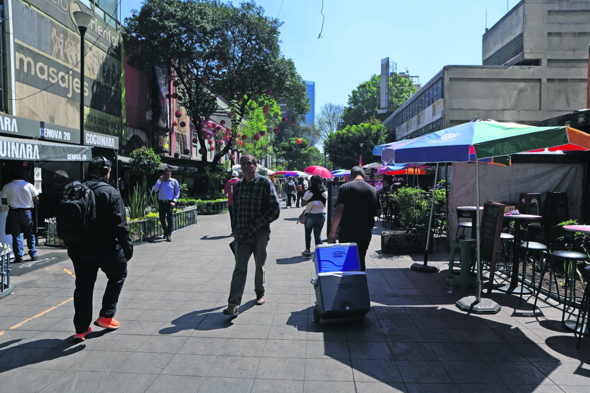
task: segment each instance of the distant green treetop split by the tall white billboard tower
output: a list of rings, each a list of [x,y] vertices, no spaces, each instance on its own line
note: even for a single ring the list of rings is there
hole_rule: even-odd
[[[377,110],[381,108],[381,75],[373,74],[370,80],[359,84],[348,95],[348,106],[344,108],[342,115],[345,125],[360,124],[371,117],[384,121],[405,103],[410,95],[410,84],[408,78],[393,74],[389,78],[388,113],[377,114]],[[415,88],[412,91],[415,93]]]

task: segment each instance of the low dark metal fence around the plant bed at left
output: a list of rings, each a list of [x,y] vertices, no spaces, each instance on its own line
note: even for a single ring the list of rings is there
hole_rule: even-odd
[[[174,219],[173,232],[198,224],[199,220],[197,212],[198,207],[191,206],[185,207],[185,209],[181,210],[180,212],[174,213],[172,215]],[[45,223],[47,224],[47,237],[45,240],[45,245],[63,246],[63,240],[57,237],[55,218],[45,220]],[[133,244],[136,245],[140,243],[151,242],[152,240],[158,239],[158,237],[162,237],[164,235],[162,226],[160,226],[159,217],[146,217],[146,219],[128,222],[127,224],[129,225],[129,232],[131,239],[133,240]]]

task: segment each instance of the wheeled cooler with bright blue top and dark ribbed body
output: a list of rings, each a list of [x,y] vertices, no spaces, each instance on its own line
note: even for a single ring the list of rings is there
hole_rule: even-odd
[[[369,287],[365,272],[360,271],[359,249],[356,243],[316,246],[313,253],[316,291],[313,319],[359,317],[371,309]]]

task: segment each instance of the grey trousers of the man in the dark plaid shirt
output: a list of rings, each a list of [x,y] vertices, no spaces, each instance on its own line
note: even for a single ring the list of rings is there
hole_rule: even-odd
[[[257,296],[264,296],[264,273],[266,272],[266,245],[270,239],[270,233],[258,232],[255,237],[247,240],[235,240],[235,267],[231,276],[230,298],[228,304],[240,306],[242,295],[246,286],[248,274],[248,260],[254,254],[254,292]]]

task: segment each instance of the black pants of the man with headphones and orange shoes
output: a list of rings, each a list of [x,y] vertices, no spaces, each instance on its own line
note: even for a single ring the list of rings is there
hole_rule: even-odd
[[[74,263],[76,272],[76,289],[74,290],[74,327],[76,333],[86,333],[92,322],[92,295],[94,282],[100,270],[106,274],[107,288],[104,290],[103,306],[99,315],[113,318],[117,311],[117,302],[127,277],[127,262],[123,251],[111,253],[73,253],[68,256]]]

